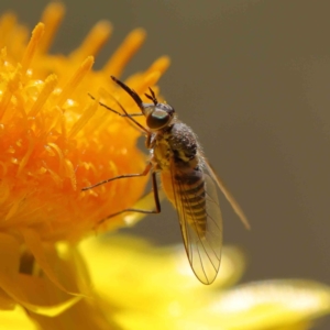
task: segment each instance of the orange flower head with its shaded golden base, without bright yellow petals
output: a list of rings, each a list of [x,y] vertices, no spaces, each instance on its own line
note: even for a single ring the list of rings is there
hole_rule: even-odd
[[[119,180],[81,193],[119,173],[144,168],[145,155],[136,147],[140,133],[88,92],[98,97],[103,87],[128,112],[136,112],[109,76],[120,76],[145,33],[134,30],[94,72],[92,55],[109,37],[110,23],[97,23],[68,56],[50,55],[63,15],[64,7],[51,3],[28,43],[28,30],[12,14],[0,21],[0,308],[20,304],[48,316],[91,295],[74,243],[94,234],[102,218],[132,206],[146,183]],[[161,57],[128,84],[143,94],[168,65]],[[111,98],[106,101],[117,107]],[[100,230],[124,224],[117,217]]]

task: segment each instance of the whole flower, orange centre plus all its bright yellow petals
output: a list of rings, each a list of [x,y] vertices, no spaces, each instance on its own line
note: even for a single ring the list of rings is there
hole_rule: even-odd
[[[144,189],[139,178],[81,193],[145,165],[135,146],[140,133],[88,97],[101,94],[107,105],[117,107],[114,98],[136,111],[109,76],[120,76],[144,32],[133,31],[92,72],[91,55],[111,25],[99,22],[69,56],[51,56],[63,14],[62,4],[51,3],[30,42],[13,15],[0,20],[0,328],[304,330],[329,314],[330,288],[312,282],[230,288],[244,271],[234,248],[223,249],[219,277],[207,287],[193,275],[183,246],[160,249],[122,237],[76,246],[100,219],[136,205]],[[168,64],[161,57],[128,84],[143,95]],[[100,230],[138,219],[117,217]]]

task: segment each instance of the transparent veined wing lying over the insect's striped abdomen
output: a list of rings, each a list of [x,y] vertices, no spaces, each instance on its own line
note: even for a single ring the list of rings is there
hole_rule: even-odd
[[[172,165],[174,206],[190,266],[197,278],[211,284],[219,272],[222,248],[222,217],[215,182],[202,170]]]

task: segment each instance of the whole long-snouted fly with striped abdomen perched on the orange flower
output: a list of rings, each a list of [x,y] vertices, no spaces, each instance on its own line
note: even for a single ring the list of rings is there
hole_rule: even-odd
[[[219,272],[222,248],[222,217],[219,207],[217,186],[223,193],[233,210],[246,228],[250,228],[239,204],[222,180],[205,158],[196,134],[177,119],[175,110],[167,103],[157,101],[154,91],[145,96],[152,101],[144,103],[140,96],[124,82],[112,77],[112,80],[133,98],[141,112],[120,113],[100,103],[106,109],[125,117],[145,133],[145,145],[150,150],[150,160],[145,169],[139,174],[124,174],[100,182],[82,190],[92,189],[106,183],[130,177],[146,176],[151,173],[153,185],[154,210],[124,209],[110,215],[99,223],[123,212],[160,213],[161,202],[156,174],[160,173],[163,190],[177,210],[182,235],[189,264],[197,278],[204,284],[211,284]],[[134,117],[144,116],[146,127]]]

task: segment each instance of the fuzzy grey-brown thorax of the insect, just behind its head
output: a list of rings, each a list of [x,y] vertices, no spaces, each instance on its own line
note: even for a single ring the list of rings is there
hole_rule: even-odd
[[[172,161],[183,168],[195,168],[199,164],[197,139],[186,124],[175,122],[154,134],[152,156],[156,169],[169,169]]]

